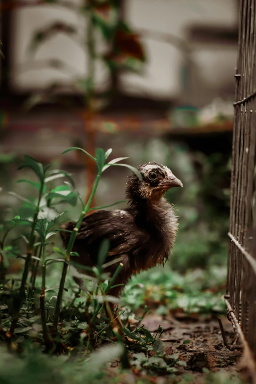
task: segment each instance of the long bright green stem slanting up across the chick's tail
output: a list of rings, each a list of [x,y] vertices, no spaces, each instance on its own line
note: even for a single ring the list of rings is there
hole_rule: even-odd
[[[62,294],[63,294],[64,284],[65,284],[67,270],[68,270],[69,261],[70,261],[70,253],[72,252],[72,249],[74,247],[74,243],[75,243],[75,240],[76,240],[76,237],[77,237],[77,232],[78,232],[78,230],[80,228],[81,222],[83,221],[83,218],[86,215],[86,213],[87,213],[87,211],[88,211],[88,209],[90,207],[90,204],[91,204],[91,202],[93,200],[93,197],[94,197],[96,189],[98,187],[100,178],[101,178],[101,172],[98,173],[98,175],[97,175],[97,177],[95,179],[95,182],[94,182],[94,185],[93,185],[93,188],[92,188],[92,192],[91,192],[91,195],[90,195],[90,197],[88,199],[88,202],[85,205],[84,210],[82,210],[82,212],[81,212],[81,214],[79,216],[79,219],[77,221],[77,225],[72,230],[72,233],[71,233],[71,236],[70,236],[70,239],[69,239],[68,247],[67,247],[66,254],[65,254],[65,261],[66,262],[63,263],[61,280],[60,280],[60,284],[59,284],[59,291],[58,291],[56,307],[55,307],[55,312],[54,312],[54,317],[53,317],[53,325],[52,325],[52,333],[53,334],[56,334],[57,329],[58,329],[60,306],[61,306]]]

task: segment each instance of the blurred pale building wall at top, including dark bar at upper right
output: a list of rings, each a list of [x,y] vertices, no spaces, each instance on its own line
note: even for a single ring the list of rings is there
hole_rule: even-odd
[[[70,2],[81,3],[80,0]],[[122,18],[142,35],[147,53],[142,74],[120,74],[119,87],[124,94],[165,101],[185,98],[196,106],[205,105],[216,96],[233,95],[236,0],[122,2]],[[16,8],[8,13],[8,25],[5,12],[2,26],[8,29],[7,60],[13,92],[31,92],[56,82],[68,84],[75,77],[86,76],[88,59],[82,45],[86,20],[81,14],[74,9],[47,4]],[[75,42],[73,35],[57,33],[31,57],[28,51],[33,33],[54,22],[74,26],[81,44],[79,39]],[[107,47],[99,40],[98,34],[97,49],[103,52]],[[53,59],[63,60],[67,71],[49,67],[48,61]],[[97,89],[102,91],[109,81],[109,72],[101,60],[96,61],[95,72]]]

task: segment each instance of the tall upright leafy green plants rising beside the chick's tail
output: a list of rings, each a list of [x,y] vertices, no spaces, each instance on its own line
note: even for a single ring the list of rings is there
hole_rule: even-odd
[[[40,313],[41,313],[40,321],[42,325],[42,337],[47,347],[50,347],[53,344],[53,339],[51,339],[51,335],[54,336],[54,338],[56,338],[57,332],[61,330],[61,327],[59,327],[58,323],[59,323],[59,316],[60,316],[60,310],[61,310],[61,304],[62,304],[62,295],[63,295],[64,285],[66,281],[67,270],[70,264],[71,251],[72,251],[72,248],[76,239],[77,231],[79,229],[82,219],[84,218],[84,216],[86,215],[89,209],[94,209],[94,208],[90,208],[90,204],[96,192],[102,172],[105,171],[110,166],[125,166],[131,169],[133,172],[137,174],[139,178],[141,178],[141,175],[137,169],[131,167],[128,164],[118,163],[120,160],[123,160],[125,158],[116,158],[106,163],[107,157],[109,156],[109,154],[111,154],[112,150],[108,150],[105,153],[102,149],[97,149],[95,151],[95,157],[88,154],[86,151],[80,148],[70,148],[64,153],[71,150],[81,150],[85,152],[91,159],[93,159],[96,162],[98,167],[98,175],[96,177],[93,189],[91,191],[91,195],[86,205],[83,203],[79,193],[75,190],[75,185],[70,174],[68,174],[65,171],[51,170],[49,165],[43,166],[41,163],[39,163],[38,161],[36,161],[35,159],[27,155],[25,155],[25,161],[23,164],[20,165],[19,169],[29,168],[34,172],[38,181],[21,179],[19,180],[19,182],[28,183],[29,185],[31,185],[37,190],[38,192],[37,201],[33,202],[20,195],[17,195],[16,193],[10,192],[12,195],[17,197],[21,201],[25,202],[30,207],[29,217],[15,216],[14,219],[4,222],[1,227],[1,231],[3,232],[3,235],[0,241],[1,270],[4,270],[5,268],[4,263],[6,261],[6,256],[10,255],[11,252],[13,252],[13,248],[8,249],[5,247],[5,241],[9,232],[17,226],[25,226],[28,232],[26,233],[26,235],[22,235],[23,239],[26,242],[26,255],[18,256],[25,259],[25,265],[24,265],[24,270],[22,274],[20,288],[18,289],[15,286],[15,283],[12,283],[11,286],[9,286],[8,281],[6,282],[4,279],[4,274],[2,274],[1,276],[1,279],[3,281],[2,290],[4,291],[4,294],[1,295],[1,299],[4,298],[6,290],[8,292],[6,296],[6,303],[8,300],[7,299],[8,295],[12,296],[12,310],[11,310],[12,314],[8,314],[7,319],[5,318],[5,321],[4,321],[6,326],[10,324],[10,330],[5,333],[6,337],[10,339],[13,337],[15,333],[17,333],[17,325],[18,324],[21,325],[20,320],[21,320],[21,317],[23,317],[24,315],[26,315],[26,319],[29,325],[31,323],[31,317],[33,319],[32,323],[39,320],[39,317],[37,317],[36,321],[34,321],[35,317],[31,316],[30,313],[32,313],[33,315],[35,314],[33,309],[33,306],[34,306],[33,295],[36,289],[35,287],[36,275],[38,273],[38,267],[40,265],[42,281],[41,281],[41,288],[40,288],[41,292],[40,292],[39,299],[40,299]],[[64,185],[58,185],[58,186],[52,187],[51,182],[53,180],[62,179],[63,177],[68,179],[68,181],[64,182]],[[59,226],[59,220],[60,220],[60,217],[62,216],[62,213],[58,213],[55,210],[55,207],[64,202],[70,205],[76,205],[77,198],[79,199],[82,205],[82,209],[81,209],[79,218],[77,220],[77,225],[72,231],[67,250],[63,252],[59,248],[55,248],[54,250],[60,256],[60,258],[52,258],[52,257],[49,258],[46,256],[46,249],[47,249],[47,246],[49,245],[49,238],[52,235],[56,234],[56,231],[58,230],[58,226]],[[45,201],[45,204],[42,204],[43,200]],[[51,219],[49,217],[44,217],[45,212],[49,210],[53,210],[54,212],[54,217]],[[99,286],[101,287],[101,295],[95,296],[95,300],[98,302],[100,302],[100,300],[102,300],[102,302],[105,302],[108,300],[106,295],[110,287],[109,284],[113,285],[114,283],[115,276],[113,277],[113,279],[109,281],[108,286],[107,284],[104,283],[106,276],[104,274],[104,270],[103,270],[104,268],[102,264],[106,256],[106,252],[107,252],[107,248],[104,247],[104,249],[102,249],[102,255],[99,255],[100,261],[99,261],[98,268],[96,269],[91,268],[91,271],[90,271],[95,277],[91,279],[94,282],[94,284],[91,291],[89,292],[89,295],[87,297],[87,301],[85,304],[85,308],[87,307],[86,308],[87,312],[90,304],[89,300],[91,300],[96,289],[96,282],[98,283],[98,287]],[[56,262],[62,263],[63,268],[62,268],[61,280],[59,284],[54,314],[50,315],[49,314],[50,302],[45,301],[46,274],[47,274],[47,267],[52,263],[56,263]],[[30,271],[31,271],[31,279],[30,279],[30,282],[28,282],[28,274]],[[25,301],[26,301],[26,306],[24,306]],[[6,303],[3,302],[3,309],[5,309]],[[99,306],[96,306],[96,304],[94,303],[94,307],[99,307]],[[102,306],[100,306],[99,308],[101,307]],[[99,312],[99,309],[98,309],[98,312]],[[96,315],[93,316],[94,321],[97,320]],[[28,325],[27,321],[26,321],[26,326]],[[88,320],[87,325],[86,326],[84,325],[84,327],[86,329],[87,328],[91,329],[91,332],[92,332],[91,336],[92,336],[92,339],[94,339],[95,333],[94,333],[93,327],[95,327],[96,324],[90,323],[90,325],[88,326],[89,323],[90,322]],[[79,321],[78,322],[75,321],[74,329],[77,329],[78,325],[79,325]],[[25,328],[26,328],[25,330],[21,329],[19,330],[19,332],[23,333],[26,331],[30,331],[31,329],[30,326],[28,327],[28,329],[27,327]]]

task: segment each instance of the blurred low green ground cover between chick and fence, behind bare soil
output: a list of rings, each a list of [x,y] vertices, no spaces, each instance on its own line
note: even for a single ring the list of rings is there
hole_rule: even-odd
[[[123,300],[133,310],[144,303],[155,304],[161,315],[177,309],[198,315],[223,313],[226,307],[221,294],[225,280],[225,267],[196,269],[182,276],[165,265],[134,276],[128,282]]]

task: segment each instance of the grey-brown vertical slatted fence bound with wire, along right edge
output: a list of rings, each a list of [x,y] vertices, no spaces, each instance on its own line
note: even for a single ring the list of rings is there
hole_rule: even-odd
[[[240,0],[234,107],[227,292],[256,358],[256,0]]]

